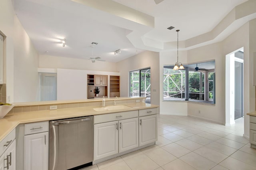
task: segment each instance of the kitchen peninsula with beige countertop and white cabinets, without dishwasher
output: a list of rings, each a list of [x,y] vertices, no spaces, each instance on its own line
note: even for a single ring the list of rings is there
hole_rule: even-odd
[[[144,100],[145,98],[143,97],[121,97],[116,100],[115,98],[106,98],[106,107],[102,107],[102,99],[15,103],[12,111],[3,119],[0,119],[0,142],[4,142],[4,139],[8,138],[16,130],[16,154],[25,155],[21,159],[20,156],[16,156],[17,159],[20,159],[16,160],[16,166],[33,166],[34,161],[25,161],[26,154],[24,152],[26,152],[26,148],[24,151],[20,151],[23,150],[21,147],[24,146],[24,143],[25,147],[27,146],[24,136],[43,134],[42,142],[45,144],[43,146],[45,148],[48,146],[49,140],[51,140],[51,137],[48,137],[48,121],[93,116],[94,157],[91,163],[97,164],[98,162],[150,146],[157,140],[159,106],[144,103]],[[114,102],[116,105],[114,105]],[[38,124],[38,127],[32,127],[32,125],[36,124]],[[26,125],[29,128],[26,128]],[[33,131],[37,128],[38,131],[35,134],[32,134],[33,132],[26,133],[27,129]],[[102,129],[104,129],[104,133],[101,131]],[[106,133],[110,133],[110,135],[106,135]],[[126,135],[126,133],[129,135]],[[115,134],[114,144],[109,143],[112,141],[111,134]],[[105,138],[104,142],[102,142],[101,136],[104,135],[110,136],[110,139]],[[15,138],[12,138],[12,140],[15,141]],[[40,146],[38,147],[40,148]],[[106,151],[105,148],[110,150]],[[48,167],[48,150],[47,147],[46,154],[38,157],[46,160],[44,161],[44,164],[47,164],[46,167]],[[33,155],[35,152],[29,151],[29,154]],[[32,158],[37,156],[35,154]],[[42,158],[43,156],[47,156],[47,158]]]

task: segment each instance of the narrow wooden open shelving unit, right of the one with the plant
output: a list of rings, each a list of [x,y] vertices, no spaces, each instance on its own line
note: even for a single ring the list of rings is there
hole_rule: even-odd
[[[110,75],[110,97],[120,97],[120,76]]]

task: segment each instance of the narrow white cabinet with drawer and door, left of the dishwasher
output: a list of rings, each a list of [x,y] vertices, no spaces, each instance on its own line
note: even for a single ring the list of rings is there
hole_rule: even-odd
[[[48,170],[49,122],[25,124],[24,170]]]

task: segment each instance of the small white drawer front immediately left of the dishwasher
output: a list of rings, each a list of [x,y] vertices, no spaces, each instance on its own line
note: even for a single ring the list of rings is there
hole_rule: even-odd
[[[37,122],[25,124],[25,135],[49,131],[49,122]]]

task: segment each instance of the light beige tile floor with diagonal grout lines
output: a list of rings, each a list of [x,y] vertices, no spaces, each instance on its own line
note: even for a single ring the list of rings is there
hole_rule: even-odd
[[[83,170],[256,170],[244,120],[225,127],[185,116],[158,115],[155,145]]]

